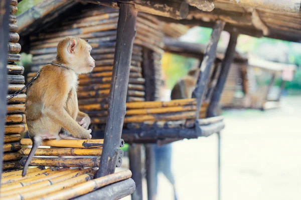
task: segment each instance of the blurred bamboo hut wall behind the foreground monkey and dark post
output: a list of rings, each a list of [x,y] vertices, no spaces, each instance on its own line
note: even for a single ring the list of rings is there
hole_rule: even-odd
[[[57,43],[65,36],[88,38],[93,47],[92,57],[96,67],[89,74],[79,76],[78,103],[81,111],[91,117],[92,129],[103,130],[107,115],[111,73],[116,40],[118,9],[104,6],[83,6],[65,20],[31,35],[30,53],[33,54],[28,80],[47,62],[56,56]],[[138,13],[134,40],[127,102],[145,101],[145,77],[143,77],[143,52],[152,53],[154,65],[150,69],[155,87],[154,96],[159,96],[161,80],[161,55],[163,54],[163,24],[154,16]],[[145,74],[144,74],[145,75]],[[154,88],[152,88],[154,90]],[[95,104],[100,106],[95,107]],[[100,121],[100,122],[99,122]]]

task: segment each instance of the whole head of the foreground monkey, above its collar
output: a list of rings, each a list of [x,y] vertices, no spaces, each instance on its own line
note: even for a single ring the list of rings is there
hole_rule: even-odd
[[[68,36],[58,44],[57,59],[78,74],[89,73],[95,67],[95,60],[90,55],[91,49],[87,39]]]

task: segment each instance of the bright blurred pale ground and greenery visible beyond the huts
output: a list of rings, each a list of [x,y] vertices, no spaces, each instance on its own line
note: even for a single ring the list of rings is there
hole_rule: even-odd
[[[17,14],[40,1],[20,2]],[[211,31],[194,27],[179,40],[206,45]],[[218,46],[226,48],[228,40],[229,34],[222,32]],[[301,199],[301,44],[240,35],[236,50],[268,61],[293,64],[295,71],[293,78],[285,81],[276,109],[223,109],[226,128],[221,133],[221,199]],[[31,54],[22,53],[20,64],[26,68],[30,63]],[[167,92],[196,65],[196,58],[165,53],[162,68]],[[271,79],[269,73],[256,67],[252,77],[257,94],[261,92],[258,88],[267,86]],[[238,78],[236,83],[241,84],[241,80]],[[280,84],[281,76],[277,76],[269,95],[277,95]],[[235,100],[241,96],[241,86],[233,92]],[[172,170],[179,199],[217,199],[217,145],[216,135],[172,143]],[[126,158],[123,160],[123,167],[128,167]],[[145,185],[143,191],[146,199]],[[174,199],[172,185],[161,173],[157,199]]]

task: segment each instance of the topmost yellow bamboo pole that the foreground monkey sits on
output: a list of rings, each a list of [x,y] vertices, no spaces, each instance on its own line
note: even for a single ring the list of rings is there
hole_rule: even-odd
[[[33,145],[32,140],[28,138],[21,139],[22,145]],[[97,148],[102,147],[103,139],[79,139],[79,140],[68,140],[68,139],[51,139],[44,140],[42,146],[55,146],[55,147],[71,147],[71,148]]]

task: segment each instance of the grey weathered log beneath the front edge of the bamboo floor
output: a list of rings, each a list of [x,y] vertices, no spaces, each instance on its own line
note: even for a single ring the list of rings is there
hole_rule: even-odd
[[[74,200],[121,199],[135,190],[135,182],[128,178],[119,182],[101,187],[95,191],[73,198]]]

